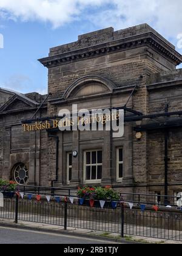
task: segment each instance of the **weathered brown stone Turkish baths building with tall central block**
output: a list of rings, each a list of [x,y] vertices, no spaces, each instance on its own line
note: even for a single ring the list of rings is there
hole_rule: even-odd
[[[182,59],[174,45],[147,24],[110,27],[52,48],[39,62],[48,69],[50,94],[36,116],[45,96],[0,91],[0,177],[27,174],[29,184],[113,185],[129,193],[182,191]],[[52,121],[72,104],[124,108],[124,137],[106,130],[24,132],[21,121]]]

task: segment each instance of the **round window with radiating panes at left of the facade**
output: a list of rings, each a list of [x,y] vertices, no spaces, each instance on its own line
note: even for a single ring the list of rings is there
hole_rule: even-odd
[[[28,169],[24,165],[24,163],[19,163],[19,165],[16,166],[15,171],[14,171],[14,179],[16,183],[23,185],[27,182],[28,180]]]

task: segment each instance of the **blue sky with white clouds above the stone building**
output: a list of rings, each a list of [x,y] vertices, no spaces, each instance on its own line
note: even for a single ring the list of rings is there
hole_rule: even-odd
[[[104,27],[148,23],[178,46],[181,6],[181,0],[0,0],[0,87],[46,93],[47,69],[37,59],[53,46]]]

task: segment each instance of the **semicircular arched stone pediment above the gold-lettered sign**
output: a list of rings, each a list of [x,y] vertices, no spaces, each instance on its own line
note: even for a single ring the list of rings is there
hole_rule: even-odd
[[[98,76],[86,76],[76,80],[64,93],[63,98],[77,98],[112,92],[115,84]]]

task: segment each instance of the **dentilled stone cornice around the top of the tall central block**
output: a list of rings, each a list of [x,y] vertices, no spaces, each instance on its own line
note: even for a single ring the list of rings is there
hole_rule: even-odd
[[[111,54],[113,52],[126,51],[127,49],[138,48],[141,46],[150,46],[152,49],[163,55],[170,62],[179,65],[182,62],[182,56],[175,49],[169,46],[161,38],[152,32],[147,32],[133,37],[123,38],[120,40],[110,41],[108,43],[97,44],[84,49],[66,52],[64,54],[55,55],[39,59],[39,62],[47,68],[72,63],[79,60],[91,59],[100,55]]]

